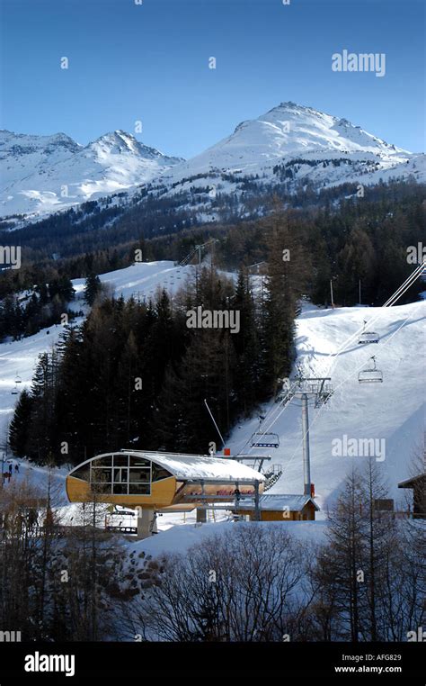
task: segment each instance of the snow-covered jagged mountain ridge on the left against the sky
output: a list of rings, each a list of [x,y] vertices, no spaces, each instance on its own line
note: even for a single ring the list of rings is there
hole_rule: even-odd
[[[125,131],[112,131],[86,146],[64,133],[0,131],[0,215],[48,214],[143,184],[180,161]]]

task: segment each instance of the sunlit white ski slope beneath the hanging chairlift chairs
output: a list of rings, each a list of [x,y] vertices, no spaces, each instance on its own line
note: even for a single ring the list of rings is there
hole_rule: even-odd
[[[365,319],[374,319],[368,329],[377,331],[379,342],[359,345],[355,340],[338,357],[331,357]],[[330,402],[309,409],[311,478],[323,506],[333,501],[352,465],[361,467],[368,459],[333,455],[333,441],[344,436],[377,441],[376,464],[395,499],[404,500],[397,483],[409,476],[413,450],[421,445],[426,426],[425,343],[424,301],[386,309],[318,310],[308,306],[297,319],[297,362],[307,376],[331,375],[334,389]],[[359,384],[359,370],[368,366],[373,355],[383,372],[383,383]],[[293,400],[280,414],[279,404],[271,402],[262,414],[267,414],[262,430],[270,426],[279,434],[279,448],[250,447],[250,437],[259,428],[257,418],[236,428],[226,445],[233,454],[247,450],[271,454],[272,464],[283,466],[271,493],[303,492],[300,403]]]

